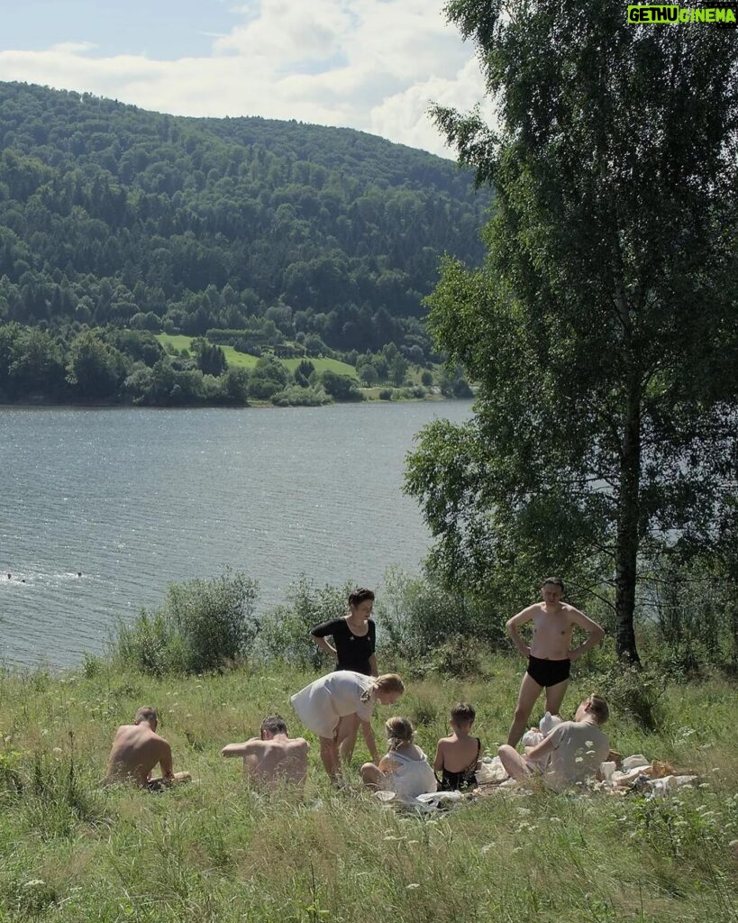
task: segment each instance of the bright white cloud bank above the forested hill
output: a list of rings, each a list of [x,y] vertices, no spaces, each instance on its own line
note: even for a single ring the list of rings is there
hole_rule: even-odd
[[[473,49],[428,0],[258,0],[208,57],[101,56],[88,43],[0,51],[0,79],[88,90],[175,115],[350,126],[451,156],[431,101],[482,101]],[[145,29],[142,28],[145,32]]]

